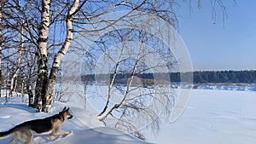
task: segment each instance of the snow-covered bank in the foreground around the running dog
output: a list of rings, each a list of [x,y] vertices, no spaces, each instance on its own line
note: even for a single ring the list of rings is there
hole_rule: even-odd
[[[0,130],[9,130],[9,128],[20,124],[23,121],[34,118],[45,118],[53,113],[59,112],[65,106],[61,103],[55,103],[52,111],[53,113],[35,112],[34,109],[28,108],[26,104],[20,103],[21,97],[9,97],[9,102],[4,103],[5,98],[0,98]],[[145,144],[137,138],[125,134],[124,132],[112,128],[103,127],[103,124],[90,114],[79,108],[72,108],[76,112],[83,112],[85,114],[83,122],[81,119],[74,117],[68,119],[62,125],[61,130],[71,130],[73,133],[67,136],[58,136],[55,141],[49,141],[46,135],[35,135],[32,144]],[[79,117],[81,118],[81,117]],[[0,144],[8,143],[11,136],[7,139],[0,140]]]

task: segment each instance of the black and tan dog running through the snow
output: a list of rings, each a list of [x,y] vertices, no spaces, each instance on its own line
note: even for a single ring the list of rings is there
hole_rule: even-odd
[[[14,133],[14,136],[9,144],[15,144],[18,141],[23,141],[24,144],[29,144],[32,141],[33,134],[49,135],[49,140],[53,141],[55,135],[69,135],[71,131],[61,131],[61,124],[73,115],[68,112],[69,108],[64,109],[48,118],[34,119],[16,125],[14,128],[0,132],[0,138],[7,138]]]

